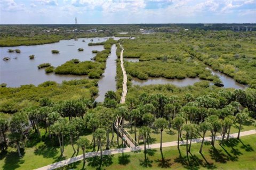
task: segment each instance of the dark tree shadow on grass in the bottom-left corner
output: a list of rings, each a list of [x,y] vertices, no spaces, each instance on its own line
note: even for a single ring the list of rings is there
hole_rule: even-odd
[[[25,154],[23,149],[21,149],[21,154]],[[5,155],[4,165],[2,167],[3,170],[17,169],[23,163],[25,163],[25,160],[22,160],[22,157],[19,157],[18,152],[9,152]]]

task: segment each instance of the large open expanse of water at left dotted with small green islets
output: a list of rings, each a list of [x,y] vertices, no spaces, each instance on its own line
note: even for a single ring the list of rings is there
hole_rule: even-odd
[[[85,42],[82,42],[83,39]],[[90,39],[93,39],[93,43],[106,41],[105,38]],[[35,84],[37,86],[49,80],[61,83],[63,80],[86,78],[86,76],[79,75],[46,74],[44,69],[38,69],[37,65],[51,63],[57,67],[72,58],[90,61],[95,56],[92,50],[103,50],[103,46],[88,46],[88,43],[91,43],[90,39],[60,40],[59,43],[36,46],[0,47],[0,83],[7,83],[7,87],[19,87],[23,84]],[[84,51],[78,52],[78,48],[84,48]],[[20,49],[21,53],[8,53],[8,49]],[[52,54],[52,49],[57,49],[60,53]],[[33,54],[35,59],[29,60],[28,56]],[[3,61],[4,57],[11,57],[11,60]],[[14,57],[17,59],[15,60]]]

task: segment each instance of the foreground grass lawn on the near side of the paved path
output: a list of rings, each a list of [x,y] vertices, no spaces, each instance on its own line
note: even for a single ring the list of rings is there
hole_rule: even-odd
[[[59,169],[256,169],[256,135],[241,137],[241,140],[231,139],[223,146],[219,141],[213,148],[205,143],[203,154],[199,154],[200,143],[191,146],[189,162],[186,156],[186,146],[163,148],[164,162],[161,151],[151,149],[147,152],[147,161],[143,151],[125,154],[109,155],[100,161],[100,157],[87,158],[86,164],[79,161]]]

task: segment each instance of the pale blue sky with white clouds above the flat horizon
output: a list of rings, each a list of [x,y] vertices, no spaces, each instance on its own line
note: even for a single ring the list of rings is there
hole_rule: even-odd
[[[0,24],[256,23],[256,0],[0,0]]]

